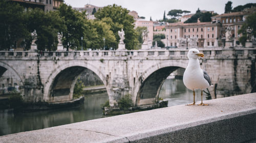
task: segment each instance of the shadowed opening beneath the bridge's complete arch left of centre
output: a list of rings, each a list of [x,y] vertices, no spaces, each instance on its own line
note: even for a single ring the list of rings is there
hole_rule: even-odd
[[[57,71],[55,71],[57,72]],[[92,81],[92,79],[94,79]],[[106,84],[101,78],[89,68],[84,66],[72,66],[66,67],[60,70],[56,76],[52,79],[48,92],[49,102],[61,102],[73,100],[74,93],[77,91],[79,96],[83,96],[84,88],[86,86],[95,87],[95,85],[101,85],[101,88],[106,90]],[[108,96],[108,92],[105,93]],[[75,96],[77,96],[75,94]]]

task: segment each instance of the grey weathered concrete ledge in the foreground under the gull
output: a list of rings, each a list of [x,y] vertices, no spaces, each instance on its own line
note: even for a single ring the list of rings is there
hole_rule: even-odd
[[[0,142],[244,142],[256,138],[256,93],[0,137]]]

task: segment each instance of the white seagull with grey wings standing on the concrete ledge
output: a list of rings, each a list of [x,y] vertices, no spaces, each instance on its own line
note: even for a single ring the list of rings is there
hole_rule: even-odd
[[[195,90],[201,90],[201,104],[198,105],[209,105],[203,103],[203,90],[209,88],[211,80],[205,70],[200,68],[198,58],[204,57],[203,53],[200,53],[198,49],[190,49],[187,53],[188,65],[183,74],[183,82],[186,88],[193,90],[194,102],[187,105],[195,105]]]

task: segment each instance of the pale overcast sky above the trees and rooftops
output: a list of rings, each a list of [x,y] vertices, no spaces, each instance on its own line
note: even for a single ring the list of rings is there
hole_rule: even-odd
[[[144,16],[146,20],[150,20],[150,17],[152,17],[152,20],[162,19],[164,11],[167,16],[168,11],[172,9],[195,13],[199,8],[200,10],[215,11],[222,14],[227,2],[228,0],[65,0],[66,4],[76,8],[84,7],[86,4],[98,7],[117,4],[130,11],[136,11],[139,16]],[[256,3],[256,0],[232,0],[231,2],[234,8],[247,3]]]

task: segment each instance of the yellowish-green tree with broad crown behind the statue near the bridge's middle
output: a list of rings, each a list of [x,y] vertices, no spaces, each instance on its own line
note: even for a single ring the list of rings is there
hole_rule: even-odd
[[[125,33],[124,43],[126,44],[126,49],[134,49],[138,44],[137,41],[137,33],[134,30],[133,23],[135,22],[133,17],[128,14],[129,11],[127,9],[122,8],[117,5],[109,5],[103,7],[95,13],[95,17],[97,20],[102,20],[109,25],[111,25],[111,31],[114,33],[116,37],[116,44],[114,48],[117,48],[119,43],[118,31],[123,28]]]

